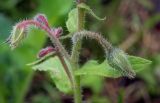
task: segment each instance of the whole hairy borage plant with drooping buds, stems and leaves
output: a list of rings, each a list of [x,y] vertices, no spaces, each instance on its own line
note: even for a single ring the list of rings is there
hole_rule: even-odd
[[[140,57],[127,55],[121,49],[113,47],[101,34],[85,30],[86,13],[90,13],[99,20],[105,18],[96,16],[84,0],[77,0],[76,2],[76,8],[70,11],[66,22],[67,29],[70,32],[66,37],[71,38],[73,43],[70,54],[60,42],[61,38],[66,38],[61,36],[63,29],[61,27],[50,27],[46,16],[43,14],[38,14],[33,19],[17,23],[13,27],[12,34],[7,42],[14,49],[26,38],[30,26],[44,30],[53,46],[42,49],[38,54],[38,60],[28,65],[32,66],[34,70],[49,73],[61,92],[73,94],[74,102],[82,103],[81,76],[95,75],[111,78],[126,76],[134,78],[135,72],[151,62]],[[83,38],[93,39],[102,46],[106,57],[104,62],[99,64],[97,60],[89,60],[83,66],[79,66],[78,61]]]

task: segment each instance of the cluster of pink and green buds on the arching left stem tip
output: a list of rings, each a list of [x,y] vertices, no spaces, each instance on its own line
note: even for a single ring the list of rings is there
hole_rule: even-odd
[[[52,29],[49,26],[46,16],[43,14],[38,14],[34,17],[34,19],[24,20],[17,23],[13,27],[10,37],[7,39],[7,42],[10,44],[10,47],[12,49],[16,48],[20,44],[20,42],[23,41],[23,39],[27,36],[30,26],[38,27],[46,31],[54,38],[59,38],[63,33],[63,29],[61,27]]]

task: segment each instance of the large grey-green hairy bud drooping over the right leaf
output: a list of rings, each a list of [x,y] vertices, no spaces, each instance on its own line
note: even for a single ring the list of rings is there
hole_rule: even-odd
[[[119,48],[111,49],[107,54],[108,63],[120,71],[123,76],[129,78],[135,77],[135,72],[132,70],[132,66],[127,58],[127,55]]]

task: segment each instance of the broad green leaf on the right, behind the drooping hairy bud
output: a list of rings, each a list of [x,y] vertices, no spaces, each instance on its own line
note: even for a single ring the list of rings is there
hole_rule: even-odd
[[[135,72],[144,69],[145,66],[151,63],[149,60],[135,56],[128,56],[128,59],[132,65],[132,69],[135,70]],[[99,64],[96,60],[90,60],[81,69],[75,71],[75,75],[97,75],[113,78],[123,76],[121,72],[112,68],[108,64],[107,60],[101,64]]]

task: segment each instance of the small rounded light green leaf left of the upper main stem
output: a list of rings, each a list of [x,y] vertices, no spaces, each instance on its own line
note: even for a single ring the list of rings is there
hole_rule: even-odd
[[[74,8],[69,12],[66,26],[70,33],[76,32],[78,30],[78,9],[77,8]]]

